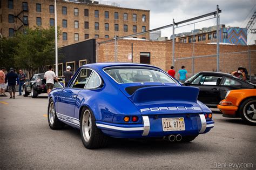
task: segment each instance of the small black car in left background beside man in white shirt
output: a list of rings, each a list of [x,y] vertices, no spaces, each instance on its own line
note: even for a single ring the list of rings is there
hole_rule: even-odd
[[[23,85],[24,97],[29,96],[29,93],[31,93],[31,97],[36,98],[38,94],[46,92],[44,74],[33,74],[32,78]]]

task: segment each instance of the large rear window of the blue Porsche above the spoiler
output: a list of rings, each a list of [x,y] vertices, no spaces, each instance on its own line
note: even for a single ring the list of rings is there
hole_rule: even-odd
[[[167,74],[160,70],[145,69],[138,67],[129,68],[111,68],[106,69],[105,72],[109,74],[117,83],[143,83],[143,82],[160,82],[160,83],[176,83]]]

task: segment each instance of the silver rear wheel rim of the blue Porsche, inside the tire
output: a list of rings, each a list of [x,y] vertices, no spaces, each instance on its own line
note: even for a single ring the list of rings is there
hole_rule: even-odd
[[[89,110],[85,110],[82,118],[82,132],[83,132],[83,138],[86,142],[88,142],[91,138],[91,131],[92,131],[91,113]]]

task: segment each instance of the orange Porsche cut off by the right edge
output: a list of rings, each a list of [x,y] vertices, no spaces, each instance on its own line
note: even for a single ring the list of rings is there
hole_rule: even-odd
[[[218,108],[224,117],[242,118],[246,123],[256,125],[256,89],[228,91]]]

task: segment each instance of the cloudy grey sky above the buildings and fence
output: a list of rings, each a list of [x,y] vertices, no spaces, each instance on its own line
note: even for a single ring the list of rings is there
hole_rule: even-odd
[[[105,1],[105,0],[104,0]],[[168,25],[174,21],[197,17],[216,11],[217,4],[220,13],[220,24],[245,28],[256,11],[256,0],[111,0],[120,7],[150,10],[150,29]],[[211,17],[208,17],[211,18]],[[206,18],[205,18],[206,19]],[[192,22],[191,22],[192,23]],[[216,18],[195,24],[195,29],[216,25]],[[190,32],[194,25],[187,25],[175,29],[175,33]],[[254,25],[254,29],[256,24]],[[162,30],[163,37],[172,35],[172,28]],[[254,44],[256,34],[248,35],[247,43]]]

